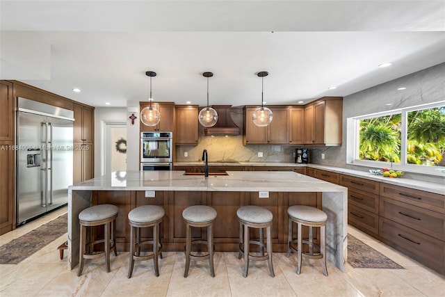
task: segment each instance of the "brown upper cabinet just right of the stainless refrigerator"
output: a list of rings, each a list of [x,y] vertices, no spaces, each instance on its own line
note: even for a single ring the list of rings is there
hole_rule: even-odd
[[[95,111],[81,104],[73,104],[74,110],[74,143],[92,143],[95,135]]]

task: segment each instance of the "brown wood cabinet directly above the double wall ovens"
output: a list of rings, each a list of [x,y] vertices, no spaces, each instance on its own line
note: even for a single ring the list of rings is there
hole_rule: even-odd
[[[139,102],[140,111],[149,105],[149,102]],[[173,114],[175,113],[175,102],[156,102],[152,103],[152,106],[156,106],[156,108],[159,109],[159,113],[161,113],[161,121],[159,121],[159,124],[156,126],[145,126],[142,122],[140,122],[140,131],[172,132],[173,129],[175,129],[175,122],[173,120]],[[173,137],[175,137],[175,135],[173,135]]]

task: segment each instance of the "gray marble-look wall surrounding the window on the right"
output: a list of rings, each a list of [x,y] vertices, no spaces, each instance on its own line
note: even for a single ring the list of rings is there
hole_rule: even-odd
[[[397,90],[401,87],[405,87],[406,90]],[[363,167],[346,164],[347,118],[443,100],[445,100],[445,63],[348,95],[343,98],[343,145],[317,147],[311,151],[311,161],[361,170]],[[392,105],[387,106],[387,103]],[[321,152],[325,153],[324,160],[321,159]]]

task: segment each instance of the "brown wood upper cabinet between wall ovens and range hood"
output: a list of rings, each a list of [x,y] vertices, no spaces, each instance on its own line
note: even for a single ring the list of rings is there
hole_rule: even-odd
[[[176,145],[197,145],[197,105],[175,106],[176,130],[173,133]],[[162,116],[161,116],[162,119]]]

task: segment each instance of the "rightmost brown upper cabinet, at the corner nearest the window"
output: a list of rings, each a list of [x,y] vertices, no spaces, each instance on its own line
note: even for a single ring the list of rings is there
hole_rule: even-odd
[[[305,144],[341,145],[343,99],[323,97],[305,106]]]

